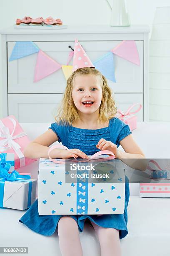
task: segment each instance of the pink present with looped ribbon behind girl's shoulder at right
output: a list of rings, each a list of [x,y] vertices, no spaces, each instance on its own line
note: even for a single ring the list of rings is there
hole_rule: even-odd
[[[132,108],[134,108],[136,105],[139,105],[139,108],[133,112],[130,112]],[[142,108],[142,105],[139,103],[133,104],[128,110],[123,113],[121,110],[117,110],[116,117],[122,120],[125,124],[128,124],[130,127],[130,130],[133,131],[137,128],[137,116],[134,115],[135,113],[139,112],[139,110]]]

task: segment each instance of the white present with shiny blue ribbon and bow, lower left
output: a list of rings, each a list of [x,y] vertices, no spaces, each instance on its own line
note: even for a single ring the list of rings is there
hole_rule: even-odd
[[[0,168],[0,207],[25,210],[36,199],[36,179]]]

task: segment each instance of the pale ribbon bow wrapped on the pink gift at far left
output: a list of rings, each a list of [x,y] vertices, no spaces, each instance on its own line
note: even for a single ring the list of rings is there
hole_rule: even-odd
[[[23,152],[20,150],[20,145],[15,142],[14,140],[17,138],[21,138],[23,136],[26,136],[26,133],[23,131],[22,133],[19,133],[15,136],[13,136],[15,128],[16,128],[16,121],[11,118],[8,117],[11,122],[14,125],[13,131],[12,133],[10,133],[10,130],[8,127],[6,127],[2,121],[0,120],[0,137],[4,138],[3,140],[0,141],[0,151],[4,152],[7,151],[7,149],[9,148],[13,148],[13,150],[15,151],[15,153],[18,155],[19,159],[20,159],[20,167],[25,166],[25,157],[23,155]],[[5,147],[7,146],[7,147]]]

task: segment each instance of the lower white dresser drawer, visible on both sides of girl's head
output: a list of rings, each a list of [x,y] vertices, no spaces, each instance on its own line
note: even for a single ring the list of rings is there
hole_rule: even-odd
[[[15,115],[20,123],[54,122],[57,108],[63,94],[8,94],[8,114]],[[113,95],[117,108],[126,111],[133,103],[143,105],[143,94],[116,93]],[[137,113],[138,121],[143,121],[143,109]]]

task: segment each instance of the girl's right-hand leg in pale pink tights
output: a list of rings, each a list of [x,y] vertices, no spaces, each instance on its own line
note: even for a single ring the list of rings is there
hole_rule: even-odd
[[[119,230],[115,228],[103,228],[91,221],[99,238],[101,256],[121,256]]]

